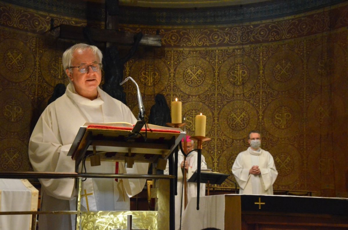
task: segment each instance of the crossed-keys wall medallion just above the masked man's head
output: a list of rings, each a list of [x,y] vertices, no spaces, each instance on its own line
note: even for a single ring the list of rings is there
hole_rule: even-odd
[[[255,108],[243,100],[228,103],[221,110],[219,124],[221,131],[232,139],[243,139],[257,125]]]

